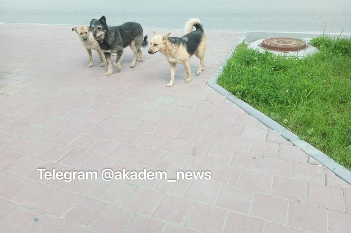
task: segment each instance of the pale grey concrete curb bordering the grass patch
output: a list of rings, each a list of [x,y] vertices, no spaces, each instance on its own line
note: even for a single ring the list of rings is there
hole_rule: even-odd
[[[286,128],[284,128],[282,125],[278,124],[268,116],[264,115],[262,112],[256,110],[246,102],[240,100],[233,94],[229,93],[226,89],[222,88],[217,84],[218,77],[220,73],[223,70],[223,66],[226,65],[227,60],[231,57],[233,54],[234,50],[236,47],[241,44],[246,38],[246,33],[244,33],[238,40],[238,42],[234,45],[226,59],[223,61],[223,63],[220,65],[220,67],[215,71],[215,73],[211,76],[211,78],[208,81],[209,86],[211,86],[213,89],[215,89],[217,92],[228,98],[230,101],[241,107],[244,111],[261,121],[264,125],[267,127],[271,128],[272,130],[276,131],[279,133],[281,136],[289,140],[291,143],[293,143],[295,146],[299,147],[302,149],[305,153],[307,153],[309,156],[312,158],[316,159],[320,163],[322,163],[325,167],[330,169],[332,172],[336,174],[336,176],[340,177],[342,180],[345,182],[351,184],[351,171],[346,169],[345,167],[341,166],[337,162],[335,162],[333,159],[331,159],[329,156],[321,152],[320,150],[316,149],[309,143],[307,143],[304,140],[301,140],[297,135],[294,133],[290,132]]]

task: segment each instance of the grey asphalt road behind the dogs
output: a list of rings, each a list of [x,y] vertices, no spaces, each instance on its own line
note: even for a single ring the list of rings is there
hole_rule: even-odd
[[[181,29],[190,17],[207,30],[351,33],[351,0],[0,0],[0,22],[107,23]]]

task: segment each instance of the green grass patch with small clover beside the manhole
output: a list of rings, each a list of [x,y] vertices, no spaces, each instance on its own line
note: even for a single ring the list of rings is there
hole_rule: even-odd
[[[351,39],[320,36],[304,59],[237,47],[218,84],[351,169]]]

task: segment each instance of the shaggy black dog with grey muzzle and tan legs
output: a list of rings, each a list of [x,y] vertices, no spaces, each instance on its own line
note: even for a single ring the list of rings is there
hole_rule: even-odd
[[[133,61],[130,64],[131,68],[135,66],[138,54],[140,56],[139,62],[144,61],[140,48],[146,47],[148,42],[147,35],[145,37],[143,36],[143,29],[139,23],[126,22],[120,26],[109,27],[106,24],[105,16],[102,16],[100,19],[92,19],[90,21],[90,29],[106,57],[108,65],[106,75],[111,75],[113,72],[111,63],[112,52],[117,53],[114,65],[118,70],[122,69],[120,62],[123,56],[123,49],[127,46],[129,46],[134,53]]]

